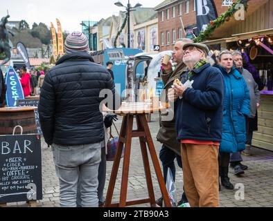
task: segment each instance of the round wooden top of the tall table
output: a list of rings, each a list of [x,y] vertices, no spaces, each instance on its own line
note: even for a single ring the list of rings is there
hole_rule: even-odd
[[[145,104],[144,102],[128,102],[127,104],[122,104],[118,110],[113,111],[110,109],[104,109],[103,111],[116,113],[117,115],[126,114],[143,114],[143,113],[157,113],[159,111],[164,111],[168,108],[168,103],[160,104],[159,107],[153,107],[152,104]]]

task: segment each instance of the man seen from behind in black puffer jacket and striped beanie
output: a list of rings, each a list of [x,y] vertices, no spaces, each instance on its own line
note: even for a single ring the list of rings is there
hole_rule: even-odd
[[[76,207],[78,185],[81,206],[98,206],[98,166],[105,138],[100,112],[105,97],[100,92],[107,89],[114,99],[114,81],[105,67],[94,63],[81,32],[67,37],[64,50],[44,79],[39,119],[44,140],[53,149],[60,206]]]

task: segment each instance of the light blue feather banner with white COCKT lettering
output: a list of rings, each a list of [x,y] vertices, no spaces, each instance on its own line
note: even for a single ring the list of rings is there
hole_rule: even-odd
[[[17,106],[17,99],[24,99],[23,88],[15,70],[10,66],[6,73],[6,102],[7,106]]]

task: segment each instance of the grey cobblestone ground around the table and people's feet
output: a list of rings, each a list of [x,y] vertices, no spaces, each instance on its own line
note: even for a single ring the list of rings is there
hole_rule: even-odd
[[[134,123],[135,124],[135,123]],[[121,128],[121,117],[116,122],[116,126]],[[152,121],[149,123],[150,131],[155,143],[157,153],[159,153],[161,144],[155,139],[159,129],[159,116],[152,115]],[[115,135],[115,134],[114,134]],[[233,169],[229,170],[231,182],[236,186],[234,190],[222,188],[220,191],[220,206],[222,207],[238,207],[238,206],[273,206],[273,152],[265,151],[259,148],[253,148],[251,157],[243,157],[244,164],[249,166],[244,175],[236,177]],[[123,161],[121,160],[121,163]],[[150,161],[151,164],[151,161]],[[176,162],[175,162],[176,164]],[[116,188],[114,189],[113,201],[118,202],[119,192],[121,190],[121,167],[116,180]],[[176,164],[177,166],[177,164]],[[107,181],[105,184],[105,195],[107,191],[108,181],[112,170],[112,162],[107,162]],[[159,185],[155,171],[151,166],[152,180],[155,189],[155,196],[161,196]],[[59,206],[60,190],[58,186],[58,178],[55,175],[53,166],[53,157],[51,148],[47,148],[42,142],[42,180],[43,180],[43,200],[37,202],[38,206],[52,207]],[[183,175],[182,169],[177,166],[176,188],[177,201],[182,194]],[[130,161],[130,173],[128,182],[127,198],[143,198],[148,196],[145,173],[141,159],[141,151],[139,148],[139,140],[132,140],[132,151]],[[10,203],[8,206],[28,206],[25,202]],[[141,204],[138,206],[149,206],[149,204]]]

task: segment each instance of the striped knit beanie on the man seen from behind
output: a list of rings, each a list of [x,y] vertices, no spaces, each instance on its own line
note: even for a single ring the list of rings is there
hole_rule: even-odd
[[[64,42],[64,50],[66,53],[72,52],[89,52],[88,39],[82,32],[72,32]]]

